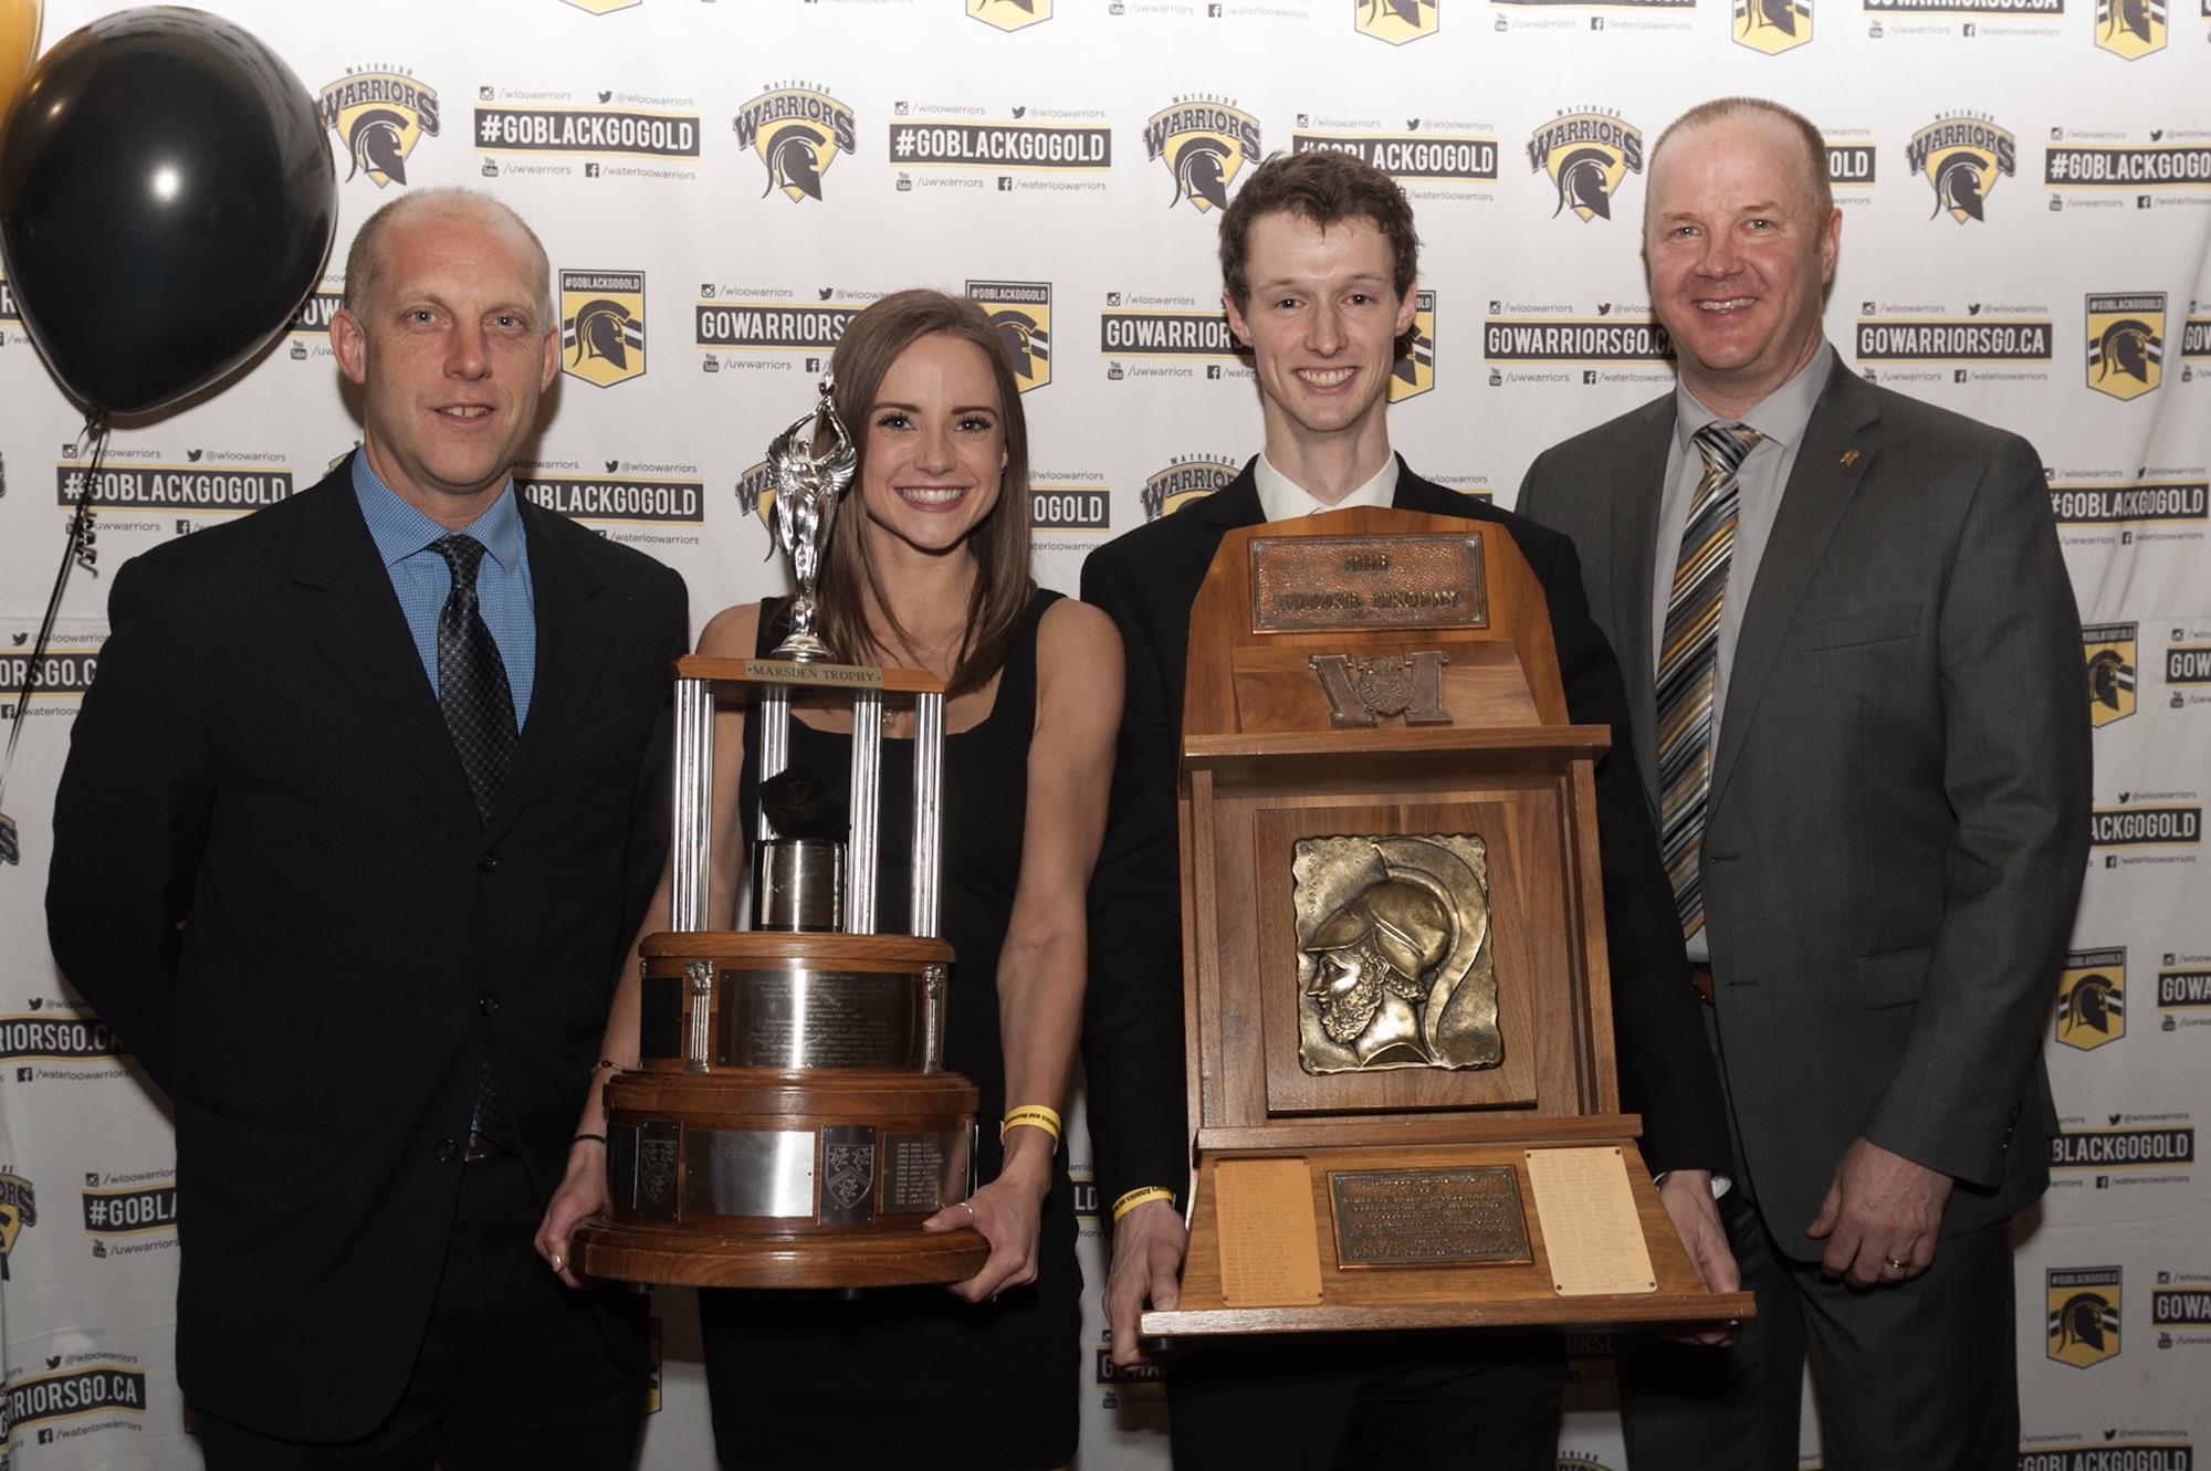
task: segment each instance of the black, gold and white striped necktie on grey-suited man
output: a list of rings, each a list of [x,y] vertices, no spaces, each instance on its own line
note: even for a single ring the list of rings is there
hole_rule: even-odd
[[[1658,850],[1674,883],[1680,932],[1705,928],[1705,797],[1711,793],[1711,696],[1720,669],[1720,607],[1736,546],[1736,470],[1760,435],[1747,424],[1705,424],[1696,448],[1705,477],[1689,497],[1674,592],[1658,649]]]

